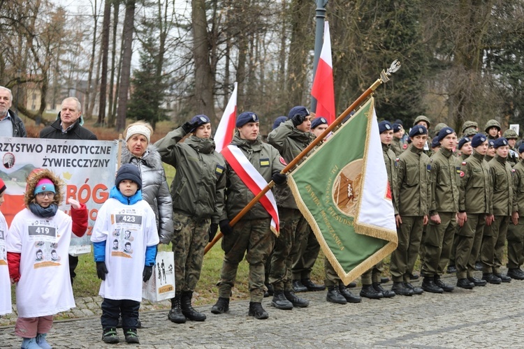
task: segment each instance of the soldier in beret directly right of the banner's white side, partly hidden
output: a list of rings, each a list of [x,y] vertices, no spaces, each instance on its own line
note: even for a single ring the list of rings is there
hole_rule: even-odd
[[[393,202],[393,209],[395,215],[397,210],[397,195],[394,192],[397,181],[397,168],[395,161],[395,153],[390,149],[391,141],[393,140],[393,125],[389,121],[379,122],[380,141],[382,143],[382,155],[384,156],[384,163],[386,164],[386,172],[388,173],[389,187],[391,188],[391,198]],[[393,184],[393,181],[395,182]],[[361,297],[370,299],[379,299],[382,297],[394,297],[395,292],[391,290],[384,290],[380,285],[381,274],[384,271],[383,262],[377,263],[371,269],[367,270],[361,276],[362,290]]]

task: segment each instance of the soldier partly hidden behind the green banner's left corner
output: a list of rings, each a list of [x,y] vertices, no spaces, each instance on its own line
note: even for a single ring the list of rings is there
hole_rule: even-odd
[[[290,163],[315,138],[311,131],[310,112],[306,107],[292,107],[288,119],[268,135],[268,143],[275,147],[287,163]],[[307,239],[308,223],[300,213],[288,186],[275,190],[280,218],[280,235],[275,241],[271,256],[269,281],[273,286],[271,305],[277,309],[305,307],[307,299],[298,297],[293,290],[291,265],[296,259],[300,245]]]

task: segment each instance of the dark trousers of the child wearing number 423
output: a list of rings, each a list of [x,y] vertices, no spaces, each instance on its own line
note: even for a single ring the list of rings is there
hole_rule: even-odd
[[[117,327],[118,318],[122,314],[122,329],[136,329],[138,327],[138,309],[140,302],[131,299],[108,299],[102,302],[102,328]]]

